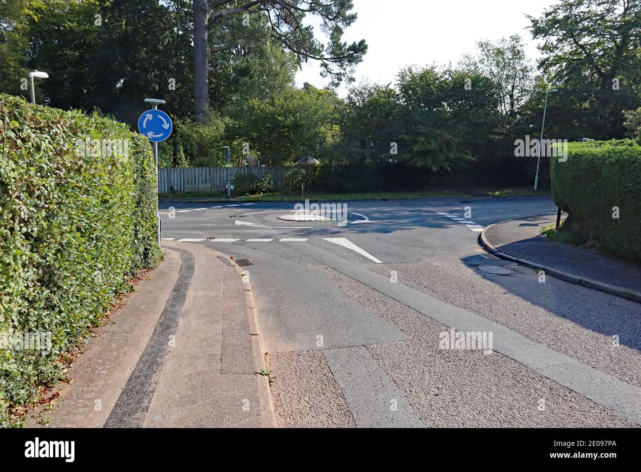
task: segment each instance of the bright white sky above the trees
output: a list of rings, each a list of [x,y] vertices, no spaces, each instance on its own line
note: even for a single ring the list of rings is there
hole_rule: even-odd
[[[365,39],[369,46],[356,68],[356,83],[394,82],[402,67],[433,62],[456,65],[467,53],[476,53],[479,39],[498,40],[520,34],[533,60],[539,57],[531,39],[526,14],[538,17],[558,0],[353,0],[358,19],[345,31],[344,40]],[[310,21],[310,24],[316,24]],[[320,37],[319,37],[320,39]],[[303,64],[296,76],[301,87],[310,82],[322,87],[315,61]],[[340,94],[346,94],[345,89]]]

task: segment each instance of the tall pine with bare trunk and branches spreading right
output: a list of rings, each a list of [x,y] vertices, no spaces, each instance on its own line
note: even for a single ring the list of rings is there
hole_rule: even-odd
[[[196,118],[204,120],[209,107],[210,53],[262,40],[263,30],[254,28],[254,22],[266,21],[269,37],[301,60],[319,60],[323,74],[334,82],[344,80],[367,51],[365,40],[342,42],[344,28],[356,20],[352,8],[351,0],[193,0]],[[303,24],[307,14],[319,17],[327,45],[315,39],[312,26]],[[226,42],[210,45],[210,28],[228,30]]]

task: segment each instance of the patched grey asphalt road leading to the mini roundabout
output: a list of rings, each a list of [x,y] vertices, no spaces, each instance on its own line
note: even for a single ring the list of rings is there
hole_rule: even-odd
[[[279,425],[641,423],[639,304],[478,245],[551,199],[342,203],[344,225],[281,219],[285,202],[161,204],[163,238],[251,263]]]

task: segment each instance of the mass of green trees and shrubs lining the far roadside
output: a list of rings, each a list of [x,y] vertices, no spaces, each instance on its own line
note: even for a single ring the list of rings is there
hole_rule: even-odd
[[[531,186],[537,153],[515,155],[515,140],[538,137],[553,87],[560,92],[549,97],[549,139],[622,139],[626,122],[640,127],[638,2],[551,4],[529,17],[522,36],[480,40],[456,64],[404,68],[393,83],[349,83],[367,57],[365,41],[341,39],[358,12],[350,2],[326,3],[308,17],[326,15],[336,26],[331,40],[301,33],[303,12],[276,12],[269,2],[260,10],[238,0],[238,13],[228,15],[215,8],[203,67],[194,62],[203,37],[194,40],[192,1],[5,0],[0,90],[26,94],[21,78],[37,67],[51,75],[37,82],[38,100],[99,109],[132,128],[141,98],[158,96],[174,121],[159,146],[160,166],[222,166],[222,145],[230,146],[232,166],[247,156],[292,166],[312,155],[321,170],[306,182],[308,193]],[[284,37],[274,34],[268,13],[294,15],[281,18]],[[531,40],[541,44],[538,64],[525,53]],[[320,63],[331,85],[349,84],[346,96],[333,86],[296,86],[304,60],[336,54],[345,60]],[[541,190],[549,189],[548,164],[544,156]]]

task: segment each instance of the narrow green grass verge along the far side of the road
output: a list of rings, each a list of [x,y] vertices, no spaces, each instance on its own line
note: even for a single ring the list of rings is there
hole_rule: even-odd
[[[252,197],[231,197],[234,202],[298,202],[300,200],[385,200],[391,198],[431,198],[431,197],[464,197],[469,195],[459,191],[417,191],[417,192],[364,192],[364,193],[306,193],[301,195],[283,195],[268,193]],[[177,192],[161,194],[160,198],[208,198],[206,201],[226,202],[227,198],[222,193]]]

